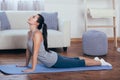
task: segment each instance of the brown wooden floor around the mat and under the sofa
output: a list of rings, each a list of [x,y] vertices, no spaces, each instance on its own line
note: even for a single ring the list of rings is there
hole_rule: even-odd
[[[120,44],[119,44],[120,45]],[[56,49],[61,55],[75,57],[86,56],[82,54],[81,42],[72,42],[67,52]],[[92,56],[86,56],[94,58]],[[120,53],[114,48],[113,42],[109,42],[109,51],[106,56],[100,56],[113,65],[112,70],[61,72],[29,75],[5,75],[0,73],[0,80],[120,80]],[[25,62],[24,50],[0,51],[1,64],[22,64]]]

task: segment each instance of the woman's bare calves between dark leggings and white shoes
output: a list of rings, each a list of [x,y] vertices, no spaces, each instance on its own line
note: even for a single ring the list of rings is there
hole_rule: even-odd
[[[101,65],[100,61],[96,61],[94,59],[85,58],[85,57],[79,57],[79,58],[85,60],[86,66],[100,66]]]

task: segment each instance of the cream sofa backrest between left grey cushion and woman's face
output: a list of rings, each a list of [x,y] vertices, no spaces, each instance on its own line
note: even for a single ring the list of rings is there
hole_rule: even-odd
[[[11,29],[29,29],[28,19],[39,11],[5,11]]]

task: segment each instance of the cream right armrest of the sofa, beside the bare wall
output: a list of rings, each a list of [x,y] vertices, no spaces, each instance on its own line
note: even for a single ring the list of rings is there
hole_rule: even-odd
[[[70,46],[70,40],[71,40],[71,23],[69,20],[60,20],[58,23],[59,31],[61,31],[64,35],[64,47]]]

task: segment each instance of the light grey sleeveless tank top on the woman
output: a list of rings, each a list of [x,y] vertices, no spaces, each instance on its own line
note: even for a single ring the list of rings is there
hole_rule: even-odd
[[[32,32],[33,36],[34,32]],[[27,46],[31,54],[33,54],[33,40],[32,38],[28,38]],[[57,62],[58,56],[54,51],[47,52],[44,48],[43,41],[40,44],[38,60],[46,65],[47,67],[52,67]]]

